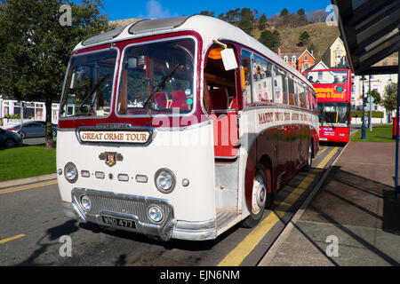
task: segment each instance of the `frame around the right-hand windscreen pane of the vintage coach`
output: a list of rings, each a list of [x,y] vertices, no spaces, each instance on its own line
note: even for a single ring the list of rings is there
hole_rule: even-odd
[[[129,118],[129,117],[151,117],[153,115],[158,115],[158,114],[162,114],[162,115],[166,115],[167,117],[183,117],[183,116],[191,116],[193,114],[195,114],[196,112],[196,107],[197,106],[197,89],[198,89],[198,59],[197,59],[197,54],[198,54],[198,40],[196,38],[196,36],[172,36],[172,37],[166,37],[163,39],[158,39],[158,40],[151,40],[151,41],[145,41],[145,42],[140,42],[140,43],[129,43],[126,46],[124,46],[124,50],[121,51],[121,55],[120,55],[120,64],[122,62],[124,62],[125,56],[126,56],[126,51],[128,48],[134,47],[134,46],[140,46],[140,45],[146,45],[146,44],[152,44],[152,43],[163,43],[163,42],[172,42],[172,41],[179,41],[179,40],[184,40],[184,39],[191,39],[194,42],[194,54],[193,54],[193,106],[192,109],[188,112],[188,113],[175,113],[173,112],[173,109],[171,112],[158,112],[158,113],[152,113],[152,114],[118,114],[117,111],[117,106],[118,106],[118,102],[119,102],[119,96],[120,96],[120,88],[121,88],[121,81],[122,81],[122,75],[123,75],[123,69],[124,67],[120,67],[119,71],[118,71],[118,82],[117,82],[117,86],[116,86],[116,106],[114,106],[114,112],[116,114],[116,117],[118,118]],[[154,111],[154,110],[153,110]]]

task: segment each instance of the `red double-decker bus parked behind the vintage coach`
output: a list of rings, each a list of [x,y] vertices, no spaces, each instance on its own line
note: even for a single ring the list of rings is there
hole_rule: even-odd
[[[321,141],[348,143],[350,133],[351,71],[321,69],[303,75],[316,91]]]

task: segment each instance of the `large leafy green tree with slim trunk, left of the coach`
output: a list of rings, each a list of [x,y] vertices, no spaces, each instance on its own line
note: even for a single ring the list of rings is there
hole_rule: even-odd
[[[62,4],[71,7],[70,26],[60,23]],[[45,102],[46,148],[53,147],[52,102],[60,99],[71,51],[110,29],[101,7],[101,0],[0,0],[0,93]]]

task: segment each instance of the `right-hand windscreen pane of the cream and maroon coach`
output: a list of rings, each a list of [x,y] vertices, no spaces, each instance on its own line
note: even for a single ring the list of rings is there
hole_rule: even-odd
[[[180,39],[124,51],[117,114],[188,113],[195,101],[195,42]]]

